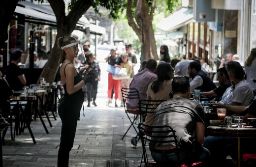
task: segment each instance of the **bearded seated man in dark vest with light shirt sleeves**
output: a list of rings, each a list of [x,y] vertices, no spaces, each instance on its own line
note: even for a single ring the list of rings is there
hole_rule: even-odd
[[[201,64],[198,61],[192,61],[188,67],[188,73],[192,81],[190,82],[190,90],[200,89],[201,91],[210,91],[216,88],[212,79],[201,70]]]

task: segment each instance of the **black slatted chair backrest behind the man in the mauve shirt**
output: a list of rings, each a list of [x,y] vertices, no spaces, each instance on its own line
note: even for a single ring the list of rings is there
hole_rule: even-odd
[[[123,87],[121,89],[121,92],[122,92],[125,111],[127,111],[127,106],[126,106],[126,100],[127,99],[138,99],[138,102],[140,101],[139,91],[135,88],[125,88],[125,87]]]

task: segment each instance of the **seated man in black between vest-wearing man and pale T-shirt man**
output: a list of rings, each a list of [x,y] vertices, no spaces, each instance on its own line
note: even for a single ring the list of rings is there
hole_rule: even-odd
[[[229,80],[229,77],[228,77],[225,67],[217,70],[217,79],[218,79],[220,85],[211,91],[202,92],[202,96],[205,96],[208,99],[215,98],[216,101],[221,100],[222,95],[224,94],[225,90],[231,86],[231,82]]]

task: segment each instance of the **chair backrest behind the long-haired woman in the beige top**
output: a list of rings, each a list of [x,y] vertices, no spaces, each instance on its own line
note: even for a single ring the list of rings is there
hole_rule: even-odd
[[[155,113],[157,107],[166,100],[140,100],[139,110],[140,113]]]

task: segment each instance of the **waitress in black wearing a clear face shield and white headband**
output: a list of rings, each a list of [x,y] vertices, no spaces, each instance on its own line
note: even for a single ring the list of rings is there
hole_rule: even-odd
[[[95,74],[86,75],[83,79],[76,71],[73,60],[78,55],[78,44],[71,36],[60,37],[58,45],[61,48],[59,63],[61,81],[65,90],[64,96],[58,107],[62,120],[62,132],[60,149],[58,153],[58,167],[68,167],[69,152],[73,147],[77,120],[80,117],[80,110],[84,102],[82,87],[95,79]]]

